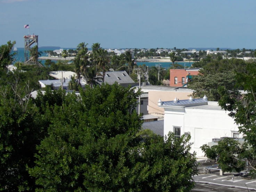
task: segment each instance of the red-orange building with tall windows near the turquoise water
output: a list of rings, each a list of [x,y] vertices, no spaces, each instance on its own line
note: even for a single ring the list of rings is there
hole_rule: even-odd
[[[171,69],[170,86],[186,86],[187,82],[191,79],[191,75],[198,75],[199,70],[199,68]]]

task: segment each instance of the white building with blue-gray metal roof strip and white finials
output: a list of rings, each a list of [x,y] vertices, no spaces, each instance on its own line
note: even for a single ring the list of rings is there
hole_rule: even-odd
[[[228,116],[228,112],[221,109],[217,102],[208,101],[207,97],[173,101],[158,101],[158,107],[164,108],[164,135],[174,132],[176,137],[191,135],[193,142],[191,152],[198,157],[204,153],[200,147],[220,137],[242,137],[238,133],[238,126]]]

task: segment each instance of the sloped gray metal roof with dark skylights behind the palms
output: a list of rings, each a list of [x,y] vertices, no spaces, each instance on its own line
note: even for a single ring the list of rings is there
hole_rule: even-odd
[[[102,75],[102,72],[100,72]],[[119,77],[119,78],[118,78]],[[105,83],[113,85],[117,83],[134,83],[132,78],[126,73],[126,71],[108,71],[105,73]],[[102,81],[98,81],[100,84]]]

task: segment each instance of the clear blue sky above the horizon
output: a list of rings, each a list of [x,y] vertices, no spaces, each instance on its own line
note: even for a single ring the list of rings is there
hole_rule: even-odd
[[[0,44],[256,48],[255,0],[0,0]]]

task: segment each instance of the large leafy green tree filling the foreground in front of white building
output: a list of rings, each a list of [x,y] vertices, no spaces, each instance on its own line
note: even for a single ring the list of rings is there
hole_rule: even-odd
[[[44,108],[52,124],[29,169],[37,191],[189,191],[197,174],[189,138],[141,137],[139,94],[107,84]]]

